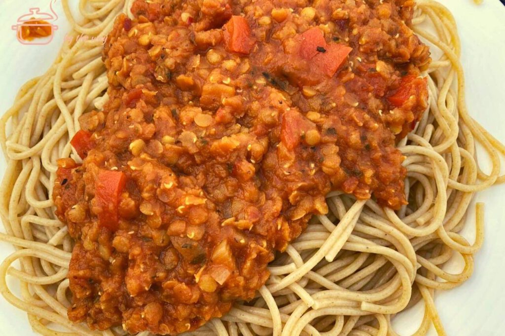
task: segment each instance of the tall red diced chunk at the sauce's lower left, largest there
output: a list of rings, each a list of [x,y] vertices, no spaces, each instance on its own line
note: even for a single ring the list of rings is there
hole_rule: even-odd
[[[126,185],[123,172],[100,170],[96,181],[95,198],[102,212],[98,213],[100,226],[115,231],[118,228],[118,206]]]

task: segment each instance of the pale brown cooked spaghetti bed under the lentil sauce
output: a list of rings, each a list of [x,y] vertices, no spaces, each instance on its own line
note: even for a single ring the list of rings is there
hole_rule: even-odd
[[[124,0],[81,1],[86,21],[78,24],[63,1],[74,36],[106,36],[129,6]],[[505,147],[467,111],[461,45],[451,14],[436,2],[419,2],[413,29],[441,56],[425,74],[429,109],[397,146],[407,157],[409,205],[394,211],[373,200],[331,192],[330,212],[314,217],[270,264],[271,276],[257,298],[235,304],[227,315],[191,334],[394,335],[391,318],[420,300],[426,309],[415,334],[426,334],[431,324],[445,334],[434,293],[457,287],[472,274],[473,255],[484,237],[481,203],[475,242],[459,232],[474,193],[505,180],[499,176],[499,154]],[[125,334],[121,327],[91,331],[68,320],[66,276],[73,242],[55,216],[51,197],[56,160],[79,160],[69,144],[79,129],[78,118],[108,99],[102,50],[101,39],[65,44],[47,73],[21,88],[0,123],[8,163],[0,197],[6,234],[0,240],[17,248],[0,266],[0,291],[28,313],[33,329],[43,335],[69,334],[56,331],[54,324],[70,334]],[[491,161],[489,174],[475,159],[477,143]],[[449,274],[442,266],[455,254],[465,266],[459,274]],[[21,268],[13,267],[16,261]],[[19,280],[20,297],[8,288],[7,275]]]

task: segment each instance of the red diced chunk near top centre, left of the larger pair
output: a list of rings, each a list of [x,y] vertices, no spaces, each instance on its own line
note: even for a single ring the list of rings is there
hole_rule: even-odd
[[[247,19],[243,16],[232,16],[223,26],[224,46],[226,50],[248,54],[254,45],[254,39]]]

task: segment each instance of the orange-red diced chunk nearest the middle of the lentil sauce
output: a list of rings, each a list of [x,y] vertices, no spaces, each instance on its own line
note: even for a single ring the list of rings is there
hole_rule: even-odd
[[[309,130],[316,129],[316,125],[302,116],[298,111],[289,110],[282,115],[281,141],[287,149],[294,149],[301,136]]]

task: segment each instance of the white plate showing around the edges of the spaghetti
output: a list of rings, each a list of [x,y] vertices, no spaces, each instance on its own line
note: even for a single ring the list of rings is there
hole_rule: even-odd
[[[1,0],[0,5],[0,114],[13,104],[19,87],[27,80],[42,75],[55,59],[69,25],[63,16],[61,3],[55,11],[59,29],[47,45],[22,45],[11,30],[17,18],[32,7],[42,12],[49,9],[49,0]],[[462,62],[466,74],[467,103],[471,115],[499,140],[505,142],[505,7],[498,0],[484,0],[476,6],[472,0],[439,0],[452,11],[458,22],[462,39]],[[75,0],[77,3],[77,0]],[[483,155],[480,159],[485,159]],[[0,159],[0,175],[5,161]],[[473,276],[461,287],[437,292],[435,303],[449,335],[502,336],[505,333],[505,206],[504,186],[493,187],[477,195],[485,207],[485,243],[475,260]],[[468,220],[473,220],[469,216]],[[3,229],[2,229],[3,230]],[[467,236],[472,240],[473,223],[469,222]],[[0,243],[0,260],[14,251]],[[448,269],[457,271],[457,261]],[[12,279],[11,279],[12,280]],[[10,288],[18,290],[15,281]],[[502,307],[502,308],[499,308]],[[416,330],[423,315],[421,306],[410,309],[394,319],[401,335]],[[434,329],[431,334],[436,334]],[[0,297],[0,334],[34,335],[26,313],[12,307]]]

